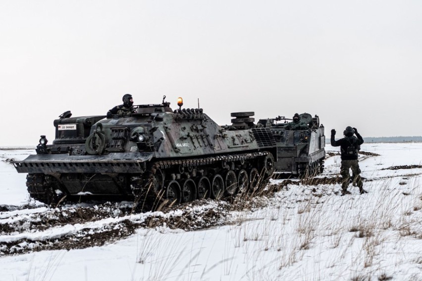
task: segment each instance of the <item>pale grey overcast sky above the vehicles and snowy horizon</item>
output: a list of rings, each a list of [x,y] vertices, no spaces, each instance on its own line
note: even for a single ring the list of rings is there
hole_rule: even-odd
[[[0,145],[135,104],[421,136],[422,1],[0,0]]]

